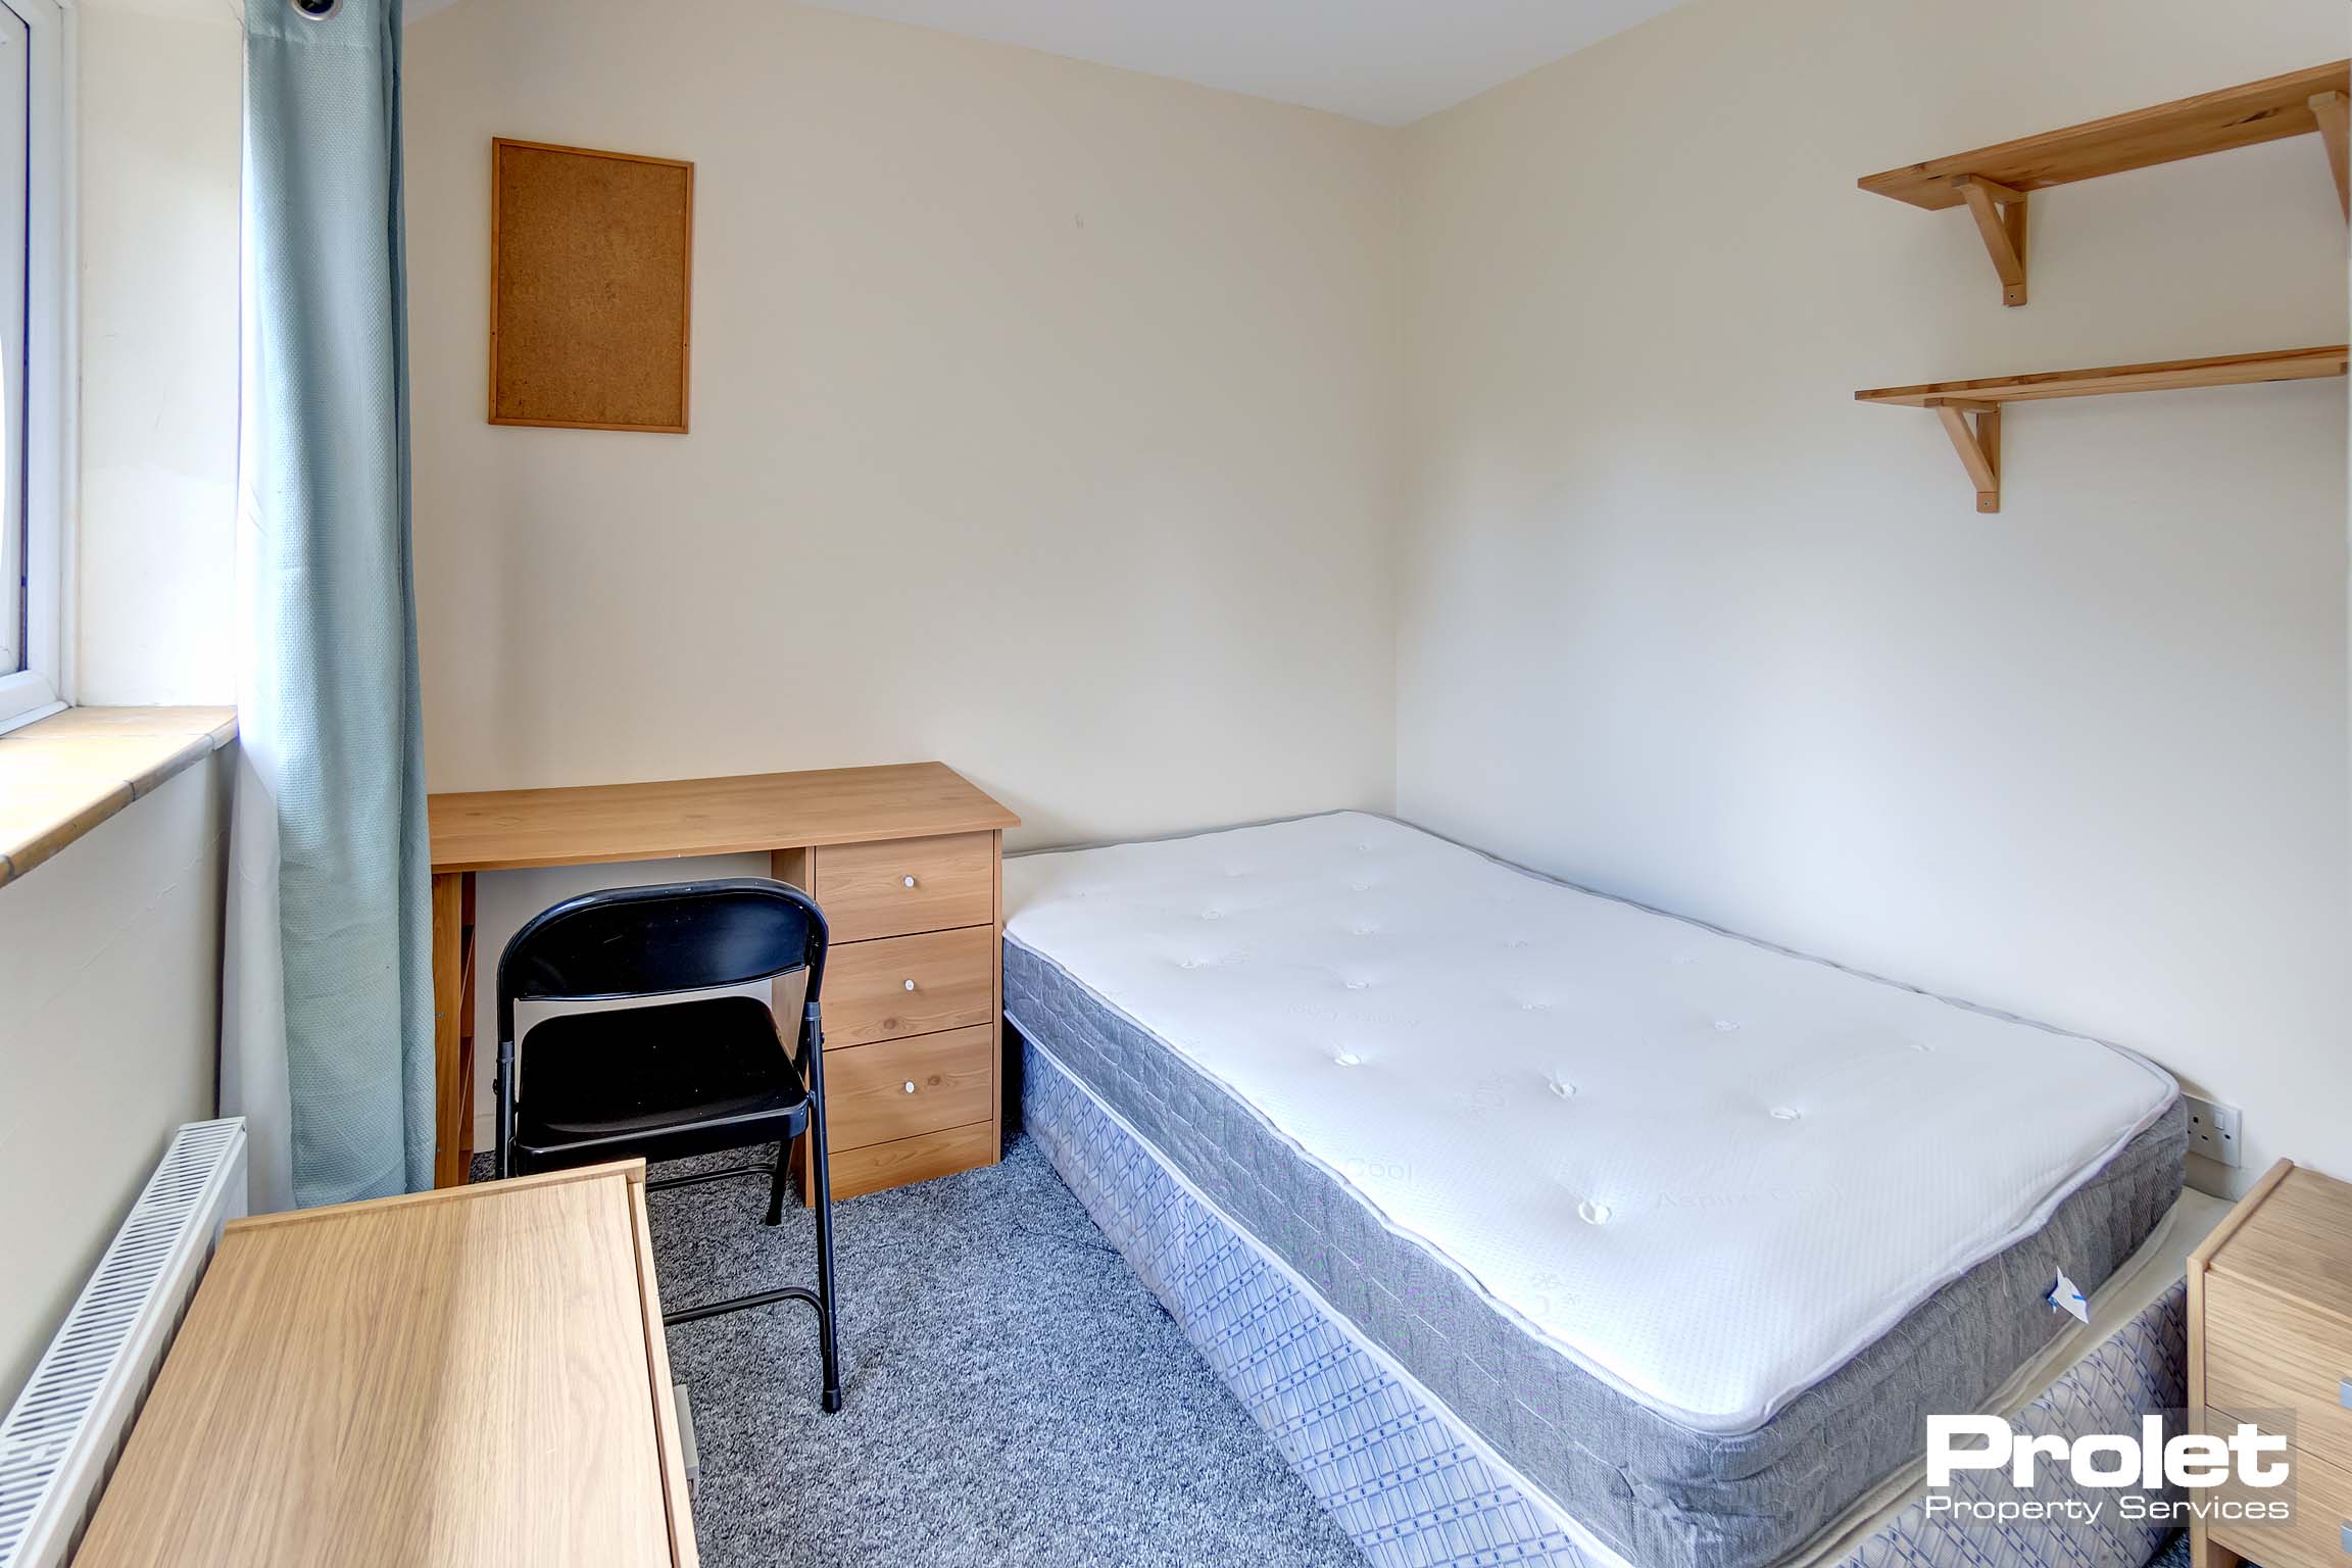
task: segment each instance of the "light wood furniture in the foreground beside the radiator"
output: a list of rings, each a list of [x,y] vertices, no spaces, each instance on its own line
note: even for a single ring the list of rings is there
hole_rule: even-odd
[[[694,1568],[644,1161],[233,1220],[75,1568]]]

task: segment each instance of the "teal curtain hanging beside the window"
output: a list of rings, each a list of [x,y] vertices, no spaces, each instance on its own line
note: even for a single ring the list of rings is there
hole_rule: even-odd
[[[247,0],[242,310],[223,1098],[308,1206],[433,1182],[400,0]]]

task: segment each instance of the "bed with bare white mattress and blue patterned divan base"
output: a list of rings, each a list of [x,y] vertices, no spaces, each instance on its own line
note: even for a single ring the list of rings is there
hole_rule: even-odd
[[[1929,1413],[2164,1328],[2185,1117],[2114,1046],[1367,813],[1004,910],[1033,1131],[1195,1340],[1279,1328],[1228,1380],[1376,1561],[1867,1556]]]

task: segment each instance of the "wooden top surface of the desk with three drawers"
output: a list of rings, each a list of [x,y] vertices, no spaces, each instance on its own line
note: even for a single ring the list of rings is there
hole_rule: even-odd
[[[600,865],[1018,827],[943,762],[435,795],[433,870]]]

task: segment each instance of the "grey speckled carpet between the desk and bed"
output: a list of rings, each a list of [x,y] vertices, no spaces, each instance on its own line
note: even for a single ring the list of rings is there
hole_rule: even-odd
[[[649,1199],[661,1300],[814,1284],[755,1180]],[[847,1408],[797,1302],[670,1331],[708,1568],[1364,1568],[1044,1154],[835,1208]]]

